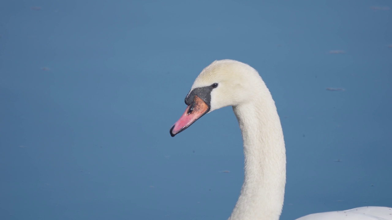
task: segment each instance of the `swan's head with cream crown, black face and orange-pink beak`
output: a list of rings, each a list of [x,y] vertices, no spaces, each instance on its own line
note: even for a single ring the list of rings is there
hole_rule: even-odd
[[[260,88],[258,72],[235,60],[217,60],[201,71],[185,97],[187,108],[170,129],[172,137],[201,116],[225,106],[237,106],[252,98]]]

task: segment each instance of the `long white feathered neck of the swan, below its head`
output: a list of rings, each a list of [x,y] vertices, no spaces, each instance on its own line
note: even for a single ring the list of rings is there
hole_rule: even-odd
[[[233,106],[245,156],[244,182],[229,220],[278,220],[286,183],[286,152],[278,112],[267,87]],[[267,94],[267,95],[266,95]]]

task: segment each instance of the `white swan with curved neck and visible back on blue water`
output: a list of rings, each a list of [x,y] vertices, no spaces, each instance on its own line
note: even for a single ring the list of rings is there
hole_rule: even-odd
[[[196,78],[185,104],[184,114],[170,129],[172,137],[201,116],[225,106],[232,106],[240,125],[245,175],[228,220],[278,220],[286,184],[285,142],[274,100],[258,72],[240,61],[214,61]],[[392,220],[392,210],[359,207],[298,218],[341,219]]]

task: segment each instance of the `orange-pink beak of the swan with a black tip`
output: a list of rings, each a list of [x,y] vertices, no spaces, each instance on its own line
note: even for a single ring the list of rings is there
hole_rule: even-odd
[[[191,124],[193,124],[197,119],[205,115],[209,111],[209,109],[210,106],[208,106],[200,97],[194,96],[192,103],[188,105],[187,109],[185,109],[184,114],[170,129],[170,135],[174,137],[174,135],[185,130],[186,128],[191,126]]]

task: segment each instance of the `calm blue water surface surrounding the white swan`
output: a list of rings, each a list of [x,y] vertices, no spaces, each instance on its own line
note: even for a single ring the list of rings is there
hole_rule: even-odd
[[[232,109],[169,135],[196,76],[220,59],[254,67],[276,101],[282,220],[392,206],[389,7],[2,2],[0,219],[227,219],[243,181]]]

